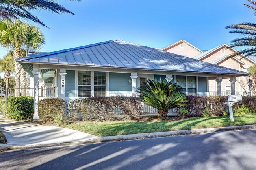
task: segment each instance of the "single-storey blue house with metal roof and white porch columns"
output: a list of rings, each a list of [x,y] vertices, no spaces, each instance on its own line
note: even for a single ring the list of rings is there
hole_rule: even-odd
[[[201,60],[184,57],[123,40],[111,40],[87,46],[41,53],[17,61],[33,77],[34,115],[38,119],[37,102],[40,82],[54,87],[55,96],[65,100],[126,95],[147,79],[167,79],[180,84],[187,95],[208,95],[208,80],[229,79],[232,94],[236,77],[248,73]]]

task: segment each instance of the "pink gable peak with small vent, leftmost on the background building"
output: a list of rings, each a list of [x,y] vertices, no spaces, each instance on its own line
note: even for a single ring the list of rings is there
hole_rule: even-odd
[[[180,44],[183,44],[183,48],[180,48]],[[184,55],[189,58],[193,58],[201,53],[197,49],[189,46],[188,44],[186,44],[184,42],[180,42],[180,43],[176,44],[175,46],[172,46],[171,48],[165,49],[164,51],[178,54],[178,55]]]

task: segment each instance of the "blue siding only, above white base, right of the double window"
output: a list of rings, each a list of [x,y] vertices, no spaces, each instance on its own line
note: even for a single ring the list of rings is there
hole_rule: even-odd
[[[109,91],[132,91],[130,73],[109,73]]]

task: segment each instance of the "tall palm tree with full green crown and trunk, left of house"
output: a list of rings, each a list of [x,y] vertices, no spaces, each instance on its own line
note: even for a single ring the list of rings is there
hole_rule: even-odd
[[[38,27],[19,20],[0,20],[0,46],[13,50],[14,60],[23,57],[23,49],[39,51],[43,44],[45,39]],[[14,63],[15,88],[18,90],[16,95],[19,95],[21,67],[18,62]]]

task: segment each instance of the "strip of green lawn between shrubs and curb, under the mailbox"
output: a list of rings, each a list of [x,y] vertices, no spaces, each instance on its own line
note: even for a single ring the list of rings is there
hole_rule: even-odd
[[[235,122],[230,122],[230,117],[194,117],[179,121],[106,121],[72,123],[63,127],[97,136],[127,135],[134,133],[163,132],[172,130],[187,130],[200,128],[213,128],[224,126],[238,126],[256,124],[256,115],[236,116]]]

